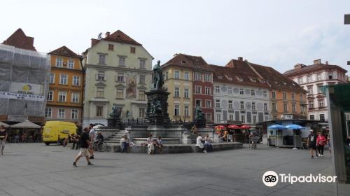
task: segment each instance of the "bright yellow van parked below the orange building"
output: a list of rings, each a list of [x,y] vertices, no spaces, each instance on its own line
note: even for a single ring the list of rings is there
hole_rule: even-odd
[[[62,144],[71,134],[76,134],[76,124],[64,121],[48,121],[43,127],[43,142],[48,146],[52,143]]]

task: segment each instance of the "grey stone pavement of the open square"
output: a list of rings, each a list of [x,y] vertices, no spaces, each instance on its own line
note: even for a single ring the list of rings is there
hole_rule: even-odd
[[[311,160],[304,150],[245,146],[232,151],[146,155],[96,153],[94,166],[76,150],[45,144],[6,145],[0,156],[0,195],[336,195],[336,183],[262,183],[268,170],[331,174],[330,155]],[[339,195],[349,195],[339,185]]]

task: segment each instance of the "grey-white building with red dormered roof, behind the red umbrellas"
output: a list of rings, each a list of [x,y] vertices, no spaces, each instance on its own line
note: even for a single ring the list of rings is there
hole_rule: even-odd
[[[214,73],[214,122],[255,124],[269,118],[269,86],[246,62],[211,65]]]

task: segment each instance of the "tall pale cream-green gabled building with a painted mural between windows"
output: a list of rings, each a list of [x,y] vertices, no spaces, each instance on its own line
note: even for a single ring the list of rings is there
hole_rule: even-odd
[[[123,31],[92,38],[91,47],[83,53],[83,125],[106,125],[113,104],[122,109],[122,118],[144,118],[145,92],[151,89],[152,60],[141,43]]]

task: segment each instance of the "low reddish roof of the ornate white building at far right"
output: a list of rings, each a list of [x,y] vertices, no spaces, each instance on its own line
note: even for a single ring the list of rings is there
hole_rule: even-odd
[[[345,69],[342,69],[341,66],[337,66],[335,64],[311,64],[311,65],[304,65],[299,64],[300,68],[290,69],[283,73],[284,76],[295,76],[299,74],[309,73],[311,71],[318,71],[318,70],[324,70],[324,69],[338,69],[339,71],[342,71],[346,73],[347,71]]]

